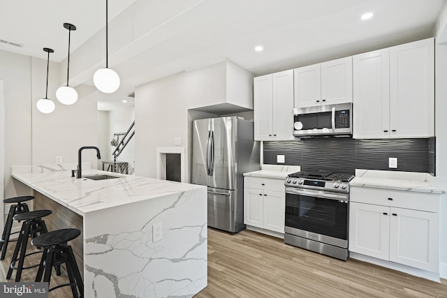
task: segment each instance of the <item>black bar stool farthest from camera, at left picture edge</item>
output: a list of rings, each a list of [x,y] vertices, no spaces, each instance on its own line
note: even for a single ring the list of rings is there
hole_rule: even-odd
[[[33,195],[27,195],[23,197],[15,197],[15,198],[9,198],[3,200],[3,203],[9,204],[9,203],[17,203],[12,204],[9,208],[8,218],[6,219],[5,228],[3,228],[3,234],[1,234],[0,239],[0,250],[1,250],[1,256],[0,260],[5,259],[6,251],[8,250],[8,243],[10,241],[17,241],[17,239],[10,240],[9,237],[11,235],[11,229],[13,228],[13,218],[16,214],[21,214],[23,212],[29,212],[29,208],[26,201],[33,200]],[[18,232],[14,232],[12,234],[15,234]]]

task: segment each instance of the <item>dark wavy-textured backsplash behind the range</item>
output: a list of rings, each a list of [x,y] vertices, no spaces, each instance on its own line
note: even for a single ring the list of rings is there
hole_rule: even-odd
[[[276,165],[277,155],[286,165],[302,170],[323,169],[354,174],[355,169],[397,170],[435,174],[435,138],[354,140],[351,137],[309,138],[297,141],[264,142],[263,163]],[[397,169],[388,158],[397,157]]]

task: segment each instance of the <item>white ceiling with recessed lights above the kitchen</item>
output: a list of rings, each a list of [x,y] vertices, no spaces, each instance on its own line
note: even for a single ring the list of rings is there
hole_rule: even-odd
[[[123,99],[132,104],[133,98],[127,95],[139,84],[224,59],[263,75],[430,37],[445,3],[109,0],[109,66],[117,70],[122,85],[115,94],[102,94],[99,108],[113,109]],[[366,12],[374,17],[361,21],[360,15]],[[129,42],[114,47],[113,36],[129,29],[119,25],[129,24],[123,21],[126,18],[131,19],[131,36],[124,38]],[[68,53],[64,22],[78,27],[71,33],[71,52],[85,51],[83,47],[105,27],[105,0],[2,0],[0,40],[23,47],[0,42],[0,50],[46,59],[42,48],[52,47],[50,59],[64,64]],[[256,45],[263,45],[263,52],[255,52]],[[96,62],[103,63],[99,57]],[[71,60],[71,69],[75,63],[76,59]],[[79,75],[75,81],[92,85],[91,70],[85,67],[84,73],[89,75]]]

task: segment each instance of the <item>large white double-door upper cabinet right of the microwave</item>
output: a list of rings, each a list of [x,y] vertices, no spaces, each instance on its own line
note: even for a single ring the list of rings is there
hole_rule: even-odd
[[[353,57],[353,137],[434,135],[434,39]]]

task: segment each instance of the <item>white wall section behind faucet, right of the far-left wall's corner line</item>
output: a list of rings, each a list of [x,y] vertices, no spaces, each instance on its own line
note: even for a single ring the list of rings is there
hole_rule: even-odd
[[[63,105],[56,98],[59,84],[52,80],[48,87],[48,98],[56,104],[54,112],[43,114],[36,108],[37,100],[45,97],[47,61],[31,59],[32,86],[32,160],[33,165],[56,163],[56,156],[62,156],[62,163],[78,163],[78,149],[82,146],[97,146],[98,91],[89,87],[76,87],[78,100],[73,105]],[[50,64],[50,75],[57,67]],[[96,151],[82,151],[82,162],[91,162],[96,167]]]

